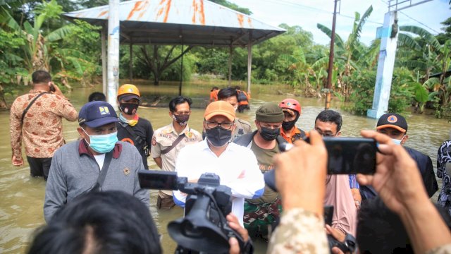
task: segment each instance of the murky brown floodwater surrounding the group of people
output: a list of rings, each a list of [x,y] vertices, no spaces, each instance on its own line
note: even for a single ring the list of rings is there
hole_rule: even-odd
[[[143,86],[144,82],[137,83],[142,95],[177,95],[178,87],[173,85],[153,85]],[[149,83],[150,84],[150,83]],[[225,87],[225,85],[220,85]],[[242,85],[244,86],[244,85]],[[185,85],[183,94],[190,97],[198,97],[197,100],[208,99],[211,85]],[[251,122],[253,125],[254,112],[263,102],[280,102],[285,99],[285,95],[275,95],[276,90],[283,87],[259,86],[252,87],[251,110],[238,117]],[[97,87],[100,90],[100,87]],[[94,92],[94,88],[77,88],[71,92],[71,102],[77,109],[87,102],[87,96]],[[21,94],[24,94],[24,90]],[[323,100],[299,98],[302,104],[302,116],[297,125],[305,131],[311,130],[314,126],[316,115],[323,109]],[[332,109],[340,111],[340,102],[337,99],[332,104]],[[190,126],[197,131],[202,130],[203,109],[192,109]],[[342,135],[358,136],[361,129],[374,129],[376,120],[367,119],[363,116],[352,116],[341,111],[343,116]],[[160,128],[170,123],[168,108],[140,108],[141,117],[152,122],[154,129]],[[416,150],[424,152],[433,160],[437,156],[438,146],[449,138],[451,124],[445,120],[435,119],[433,116],[412,114],[407,118],[409,123],[409,140],[407,145]],[[24,253],[30,241],[32,231],[44,224],[42,205],[44,202],[45,182],[43,179],[33,179],[30,177],[30,169],[27,164],[23,167],[13,167],[11,165],[11,146],[9,140],[9,112],[0,111],[0,253]],[[76,132],[77,123],[64,121],[63,131],[66,141],[70,142],[78,138]],[[25,155],[24,155],[25,156]],[[25,160],[26,161],[26,160]],[[149,167],[156,169],[156,164],[149,158]],[[439,183],[441,188],[441,182]],[[436,200],[433,198],[433,200]],[[166,224],[171,220],[182,216],[183,210],[175,208],[169,211],[156,210],[156,191],[151,192],[150,210],[163,234],[163,249],[165,253],[173,253],[175,243],[166,232]],[[266,245],[257,242],[257,253],[264,253]]]

